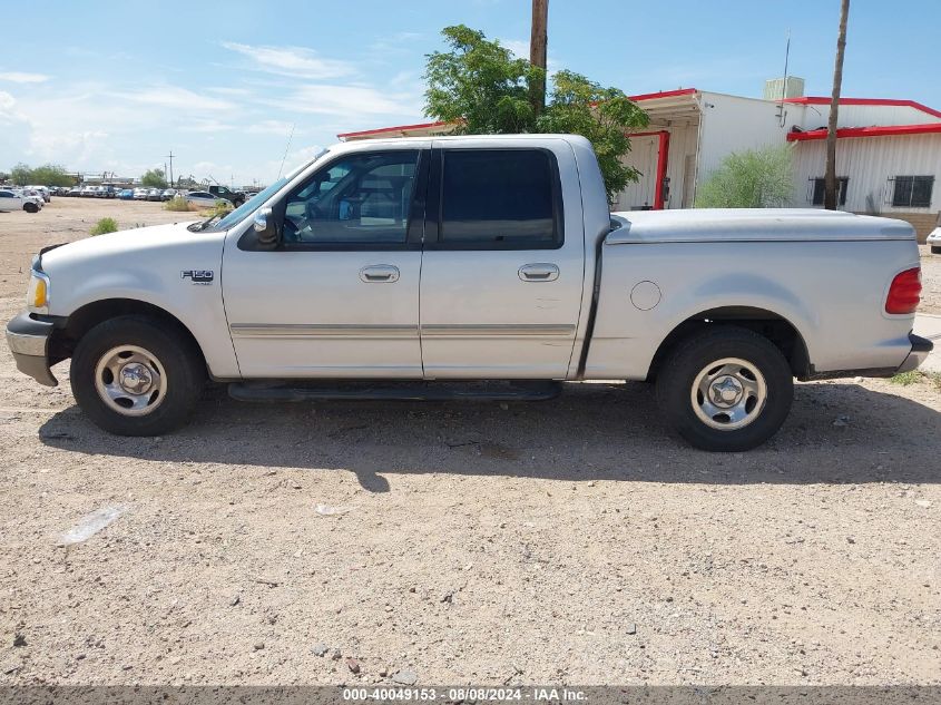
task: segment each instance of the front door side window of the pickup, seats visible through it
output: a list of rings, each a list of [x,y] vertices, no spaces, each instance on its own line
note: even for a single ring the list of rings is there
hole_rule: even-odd
[[[418,150],[343,157],[287,197],[284,242],[404,243]]]

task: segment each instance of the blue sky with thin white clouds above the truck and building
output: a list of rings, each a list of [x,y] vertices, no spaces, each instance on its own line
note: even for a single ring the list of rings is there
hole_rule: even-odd
[[[550,69],[628,94],[761,96],[791,69],[829,95],[839,0],[550,0]],[[424,55],[463,22],[528,52],[528,0],[43,2],[3,29],[0,169],[136,176],[163,166],[266,183],[336,134],[423,121]],[[9,17],[9,13],[7,13]],[[941,109],[941,2],[854,0],[844,96]]]

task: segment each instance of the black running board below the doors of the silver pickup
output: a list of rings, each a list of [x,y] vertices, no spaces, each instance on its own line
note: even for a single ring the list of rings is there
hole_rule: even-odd
[[[303,384],[233,382],[228,395],[237,401],[546,401],[562,391],[561,382],[337,382]]]

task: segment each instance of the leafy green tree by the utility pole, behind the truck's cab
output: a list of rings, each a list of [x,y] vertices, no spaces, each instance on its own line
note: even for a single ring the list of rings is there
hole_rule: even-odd
[[[630,150],[625,131],[646,126],[647,114],[621,90],[559,71],[552,76],[550,100],[537,116],[530,90],[545,82],[541,68],[463,25],[441,33],[450,50],[428,55],[425,115],[454,123],[455,131],[465,135],[582,135],[598,155],[609,200],[637,180],[638,172],[621,163]]]

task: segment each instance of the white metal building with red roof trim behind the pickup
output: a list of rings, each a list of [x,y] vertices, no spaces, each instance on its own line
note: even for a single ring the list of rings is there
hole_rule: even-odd
[[[697,186],[727,155],[785,143],[794,145],[791,205],[822,207],[830,98],[795,96],[794,86],[803,84],[788,81],[794,81],[786,94],[791,97],[783,100],[696,88],[631,96],[650,124],[631,135],[626,158],[640,172],[640,180],[618,194],[614,207],[693,207]],[[424,123],[339,137],[418,137],[452,129],[447,123]],[[837,139],[840,207],[906,219],[923,239],[941,210],[941,111],[912,100],[845,98],[840,102]]]

